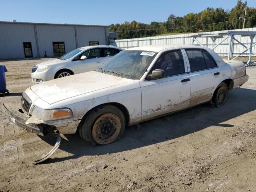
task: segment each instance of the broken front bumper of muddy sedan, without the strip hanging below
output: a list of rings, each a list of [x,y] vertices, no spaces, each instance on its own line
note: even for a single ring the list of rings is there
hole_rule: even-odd
[[[26,124],[26,121],[30,117],[26,116],[26,114],[24,113],[17,111],[10,103],[4,103],[3,109],[12,122],[25,130],[31,131],[41,136],[44,136],[47,133],[54,132],[54,127],[47,124]]]

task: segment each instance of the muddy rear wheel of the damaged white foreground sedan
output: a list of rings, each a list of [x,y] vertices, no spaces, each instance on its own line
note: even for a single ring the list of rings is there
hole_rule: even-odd
[[[214,94],[212,96],[210,103],[216,107],[221,107],[226,102],[227,96],[228,96],[228,86],[226,85],[226,83],[222,82],[218,85],[218,87],[214,91]]]

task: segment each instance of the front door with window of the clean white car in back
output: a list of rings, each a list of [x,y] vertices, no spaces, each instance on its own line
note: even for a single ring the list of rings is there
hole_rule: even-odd
[[[81,56],[83,55],[86,56],[87,59],[80,60]],[[80,54],[80,56],[74,59],[74,62],[77,64],[78,73],[98,69],[103,64],[101,48],[94,48],[83,52],[82,54]]]

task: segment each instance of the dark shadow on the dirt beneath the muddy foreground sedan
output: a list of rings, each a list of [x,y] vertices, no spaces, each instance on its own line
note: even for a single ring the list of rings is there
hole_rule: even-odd
[[[255,95],[256,90],[236,88],[229,92],[226,103],[220,108],[212,108],[208,104],[203,104],[177,114],[143,122],[139,124],[139,127],[126,128],[121,140],[104,146],[90,146],[78,134],[65,135],[68,140],[62,139],[59,149],[73,155],[49,159],[44,163],[60,162],[85,155],[122,152],[165,141],[172,143],[175,138],[210,126],[233,127],[234,125],[222,122],[255,110]],[[47,137],[41,138],[54,145],[53,141]]]

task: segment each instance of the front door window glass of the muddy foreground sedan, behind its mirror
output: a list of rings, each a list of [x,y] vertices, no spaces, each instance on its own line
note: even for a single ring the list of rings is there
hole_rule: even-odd
[[[166,77],[185,73],[181,51],[172,50],[162,53],[151,69],[151,72],[155,69],[164,70]]]

